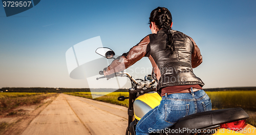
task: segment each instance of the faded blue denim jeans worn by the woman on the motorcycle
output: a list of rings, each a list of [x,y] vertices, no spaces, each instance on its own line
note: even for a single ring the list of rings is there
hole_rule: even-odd
[[[200,89],[191,93],[165,95],[154,109],[148,111],[136,125],[136,135],[150,134],[173,126],[180,118],[211,110],[209,96]]]

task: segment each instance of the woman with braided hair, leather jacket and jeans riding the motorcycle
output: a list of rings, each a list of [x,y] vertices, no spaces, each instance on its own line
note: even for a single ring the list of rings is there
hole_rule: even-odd
[[[104,75],[110,78],[142,57],[150,59],[162,101],[138,122],[137,135],[170,127],[182,117],[211,110],[210,98],[202,90],[204,83],[193,73],[193,68],[202,63],[200,50],[191,37],[172,30],[172,26],[168,9],[154,9],[150,15],[152,34],[104,69]]]

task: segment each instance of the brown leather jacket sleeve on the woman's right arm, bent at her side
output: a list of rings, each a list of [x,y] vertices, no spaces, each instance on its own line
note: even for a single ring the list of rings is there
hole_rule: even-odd
[[[193,49],[194,51],[191,56],[192,68],[197,68],[197,66],[199,66],[203,62],[203,57],[201,55],[201,52],[200,52],[196,42],[193,40],[193,38],[191,38],[191,37],[189,37],[189,38],[194,44],[194,49]]]

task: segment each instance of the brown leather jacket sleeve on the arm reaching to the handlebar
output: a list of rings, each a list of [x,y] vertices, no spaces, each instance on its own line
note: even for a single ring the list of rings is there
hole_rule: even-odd
[[[117,57],[104,71],[104,75],[111,75],[116,72],[123,71],[148,55],[147,45],[150,43],[150,36],[144,37],[136,46],[130,49],[129,52]]]

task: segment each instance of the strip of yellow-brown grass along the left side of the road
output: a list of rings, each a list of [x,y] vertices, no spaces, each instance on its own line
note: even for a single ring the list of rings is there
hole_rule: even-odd
[[[33,105],[42,100],[57,94],[44,93],[0,93],[0,115],[8,113],[7,116],[23,115],[22,110],[11,111],[11,109],[21,105]],[[9,112],[11,111],[11,112]]]

